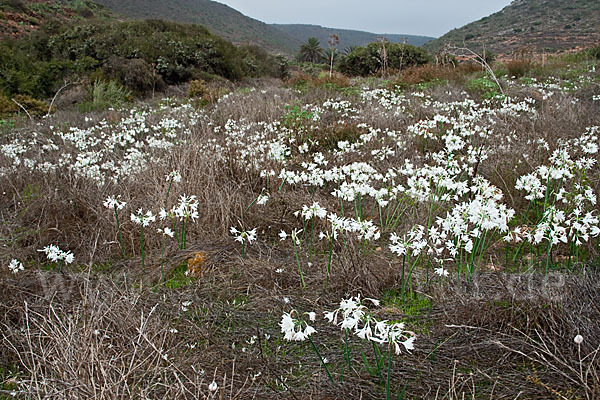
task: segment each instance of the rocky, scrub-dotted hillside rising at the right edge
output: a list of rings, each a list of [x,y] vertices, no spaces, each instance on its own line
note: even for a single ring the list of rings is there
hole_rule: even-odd
[[[515,0],[501,11],[425,45],[431,52],[450,43],[471,49],[485,46],[507,54],[526,46],[559,51],[600,41],[598,0]]]

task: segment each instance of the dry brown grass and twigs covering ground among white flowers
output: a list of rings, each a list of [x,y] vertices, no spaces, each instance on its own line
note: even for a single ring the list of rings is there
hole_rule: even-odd
[[[400,79],[414,84],[443,77],[451,82],[430,93],[439,101],[454,101],[462,100],[460,81],[466,73],[427,67],[404,71]],[[340,79],[336,76],[330,83],[346,85],[337,82]],[[227,102],[209,106],[206,119],[190,128],[188,145],[176,147],[127,183],[99,189],[67,171],[30,175],[25,169],[0,180],[0,192],[6,193],[0,198],[0,260],[3,265],[10,258],[27,260],[24,273],[13,277],[3,270],[0,280],[0,367],[18,370],[5,377],[3,394],[17,384],[15,397],[27,399],[385,398],[377,379],[362,367],[360,350],[370,359],[370,347],[355,343],[353,370],[346,372],[344,385],[332,385],[308,345],[284,343],[277,323],[289,310],[286,299],[295,308],[321,313],[350,293],[381,297],[393,291],[400,279],[398,262],[387,249],[366,251],[348,238],[344,246],[334,248],[329,288],[324,288],[322,263],[315,263],[306,274],[308,289],[301,289],[293,247],[280,243],[277,232],[298,226],[292,214],[304,204],[318,201],[335,208],[329,196],[333,187],[284,185],[271,190],[265,206],[246,211],[266,187],[266,179],[240,165],[240,149],[224,157],[204,150],[208,140],[224,145],[223,135],[213,131],[229,119],[281,120],[285,105],[322,104],[331,94],[316,89],[299,95],[262,84],[251,92],[233,91]],[[340,93],[339,98],[352,97]],[[531,139],[544,138],[551,151],[557,138],[575,137],[598,124],[597,102],[573,104],[573,98],[551,98],[533,121],[510,116],[496,121],[494,129],[518,133],[516,143],[510,152],[501,150],[500,139],[490,143],[497,151],[478,173],[503,189],[509,206],[524,204],[522,193],[509,182],[530,170],[519,160],[530,151]],[[371,126],[399,132],[433,114],[421,107],[405,115],[382,116],[372,105],[364,107]],[[118,118],[110,112],[94,118],[111,116]],[[40,127],[20,129],[49,132],[51,124],[63,120],[85,123],[79,115],[59,114]],[[351,136],[359,129],[326,118],[315,125],[321,138]],[[377,146],[368,144],[365,151]],[[383,165],[426,154],[421,143],[411,141]],[[305,156],[293,157],[300,162]],[[102,202],[118,193],[132,210],[162,206],[168,188],[165,175],[174,169],[184,180],[173,186],[170,204],[181,194],[195,194],[200,217],[190,225],[187,249],[174,244],[165,249],[166,275],[178,282],[165,287],[158,284],[161,238],[147,238],[143,275],[139,228],[123,217],[128,257],[122,258],[113,215]],[[598,192],[598,177],[590,179]],[[402,218],[398,230],[423,223],[427,212],[415,209]],[[260,233],[245,258],[229,234],[240,222]],[[316,230],[324,227],[318,222]],[[78,267],[63,273],[44,271],[38,249],[50,243],[74,251]],[[598,249],[590,251],[597,255]],[[326,252],[325,243],[315,245],[316,257]],[[182,278],[181,266],[198,253],[206,255],[198,276]],[[493,261],[501,253],[499,248]],[[301,257],[307,261],[306,254]],[[407,398],[598,398],[600,276],[591,265],[580,275],[529,272],[482,271],[459,287],[430,276],[426,282],[425,271],[418,271],[415,298],[407,305],[390,301],[385,309],[386,318],[406,320],[418,334],[417,349],[394,360],[395,389],[405,388]],[[342,364],[338,329],[317,329],[331,364]],[[584,336],[580,348],[573,343],[576,334]],[[208,390],[213,380],[218,383],[216,392]]]

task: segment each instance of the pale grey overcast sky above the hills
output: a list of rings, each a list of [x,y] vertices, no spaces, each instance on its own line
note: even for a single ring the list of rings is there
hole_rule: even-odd
[[[441,36],[510,0],[217,0],[267,23]]]

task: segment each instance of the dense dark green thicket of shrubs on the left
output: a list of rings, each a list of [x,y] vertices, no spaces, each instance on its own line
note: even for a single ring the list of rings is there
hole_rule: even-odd
[[[256,47],[237,48],[202,26],[158,20],[48,23],[0,43],[0,89],[9,95],[47,97],[64,79],[82,77],[117,80],[142,93],[207,74],[237,80],[277,73],[277,62]]]

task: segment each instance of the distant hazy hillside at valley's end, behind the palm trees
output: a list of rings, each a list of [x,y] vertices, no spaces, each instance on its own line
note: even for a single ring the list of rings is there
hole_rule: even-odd
[[[371,32],[355,31],[350,29],[327,28],[319,25],[305,24],[273,24],[272,26],[285,32],[294,39],[305,42],[310,37],[316,37],[321,42],[321,46],[327,46],[327,39],[332,34],[337,34],[340,38],[339,49],[351,46],[365,46],[368,43],[375,42],[378,37],[385,37],[390,42],[411,44],[413,46],[423,46],[425,43],[435,38],[429,36],[400,35],[400,34],[376,34]]]

